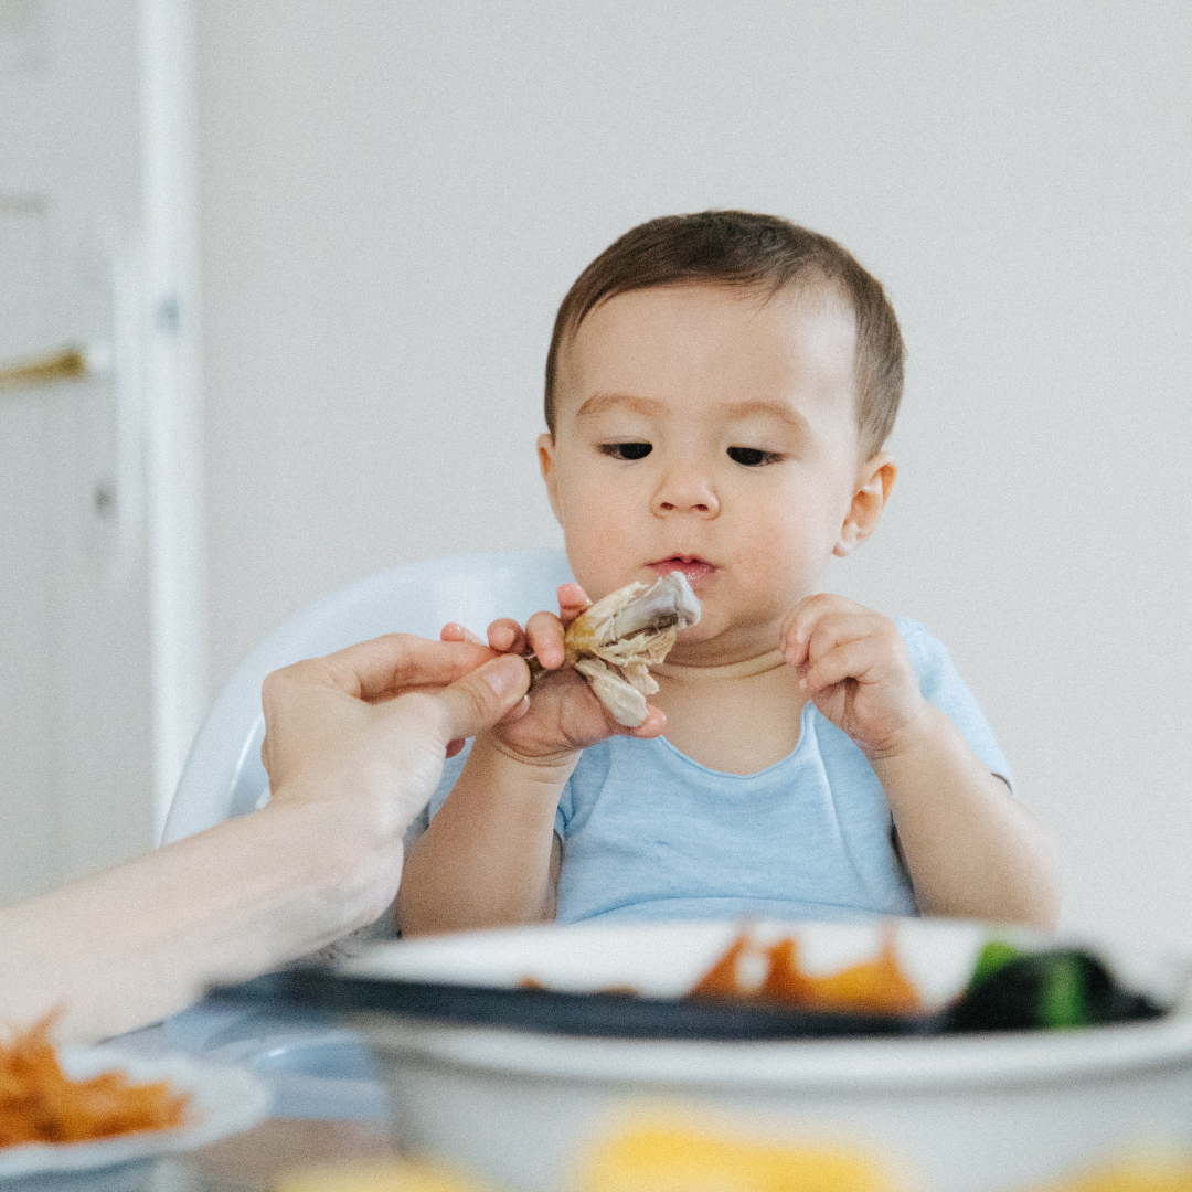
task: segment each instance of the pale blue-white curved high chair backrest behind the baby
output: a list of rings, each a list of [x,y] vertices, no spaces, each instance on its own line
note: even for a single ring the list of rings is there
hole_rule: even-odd
[[[555,588],[569,579],[560,550],[455,554],[366,576],[294,613],[240,664],[216,700],[191,746],[162,843],[261,805],[268,788],[261,683],[269,671],[383,633],[437,639],[448,621],[483,637],[498,616],[524,623],[539,609],[557,608]]]

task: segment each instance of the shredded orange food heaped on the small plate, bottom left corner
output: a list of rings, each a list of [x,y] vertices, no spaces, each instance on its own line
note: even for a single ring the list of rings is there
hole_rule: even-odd
[[[123,1073],[72,1080],[50,1035],[55,1014],[0,1043],[0,1147],[89,1142],[181,1125],[191,1097],[169,1081],[134,1085]]]

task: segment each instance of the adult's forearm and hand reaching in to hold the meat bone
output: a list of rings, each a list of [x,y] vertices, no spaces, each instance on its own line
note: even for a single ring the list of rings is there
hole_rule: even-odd
[[[448,743],[528,682],[520,658],[396,634],[271,675],[269,805],[0,908],[0,1022],[57,1008],[63,1041],[114,1035],[371,923]]]

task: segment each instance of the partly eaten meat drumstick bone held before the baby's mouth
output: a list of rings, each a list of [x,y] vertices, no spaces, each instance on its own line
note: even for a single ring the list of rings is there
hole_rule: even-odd
[[[637,728],[646,719],[646,696],[658,690],[650,673],[675,645],[681,629],[700,621],[700,602],[682,571],[656,584],[640,581],[609,592],[567,626],[565,666],[575,666],[613,719]]]

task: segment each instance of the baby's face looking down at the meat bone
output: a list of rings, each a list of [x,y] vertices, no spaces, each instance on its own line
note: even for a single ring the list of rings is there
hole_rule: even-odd
[[[850,548],[855,336],[824,290],[684,286],[597,306],[563,352],[539,454],[567,557],[592,600],[683,571],[703,616],[675,662],[774,650]]]

